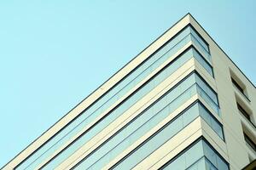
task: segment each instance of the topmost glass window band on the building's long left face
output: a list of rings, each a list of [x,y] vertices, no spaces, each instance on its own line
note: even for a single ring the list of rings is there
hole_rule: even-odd
[[[28,157],[17,169],[23,169],[27,166],[31,168],[36,167],[39,162],[55,152],[56,148],[60,148],[68,139],[71,139],[83,127],[95,120],[97,116],[102,114],[103,111],[106,111],[109,106],[113,105],[118,99],[130,91],[131,88],[134,88],[138,82],[141,82],[154,71],[155,68],[158,68],[166,59],[172,57],[173,54],[177,53],[177,50],[191,41],[189,34],[189,27],[179,32],[170,42],[167,42],[165,46],[148,57],[142,65],[137,67],[134,71],[131,71],[129,76],[118,82],[116,86],[102,95],[93,105],[90,105],[90,107],[80,114],[72,123],[61,130],[60,133],[57,133],[53,139],[49,140],[47,144],[44,144],[40,150],[37,150],[32,156]]]

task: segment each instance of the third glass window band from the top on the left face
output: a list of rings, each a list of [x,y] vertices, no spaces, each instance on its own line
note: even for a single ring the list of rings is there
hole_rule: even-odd
[[[191,85],[188,86],[188,83],[193,84],[195,82],[191,82],[190,79],[191,78],[188,77],[188,79],[186,79],[184,82],[181,82],[177,88],[173,88],[154,105],[143,111],[143,113],[137,116],[137,119],[129,122],[129,124],[121,132],[109,140],[107,144],[103,145],[99,151],[96,151],[92,156],[90,156],[96,156],[96,159],[90,157],[86,158],[81,166],[86,168],[86,166],[94,164],[93,168],[98,168],[97,166],[99,166],[99,168],[102,167],[102,164],[107,162],[103,160],[107,160],[109,156],[117,156],[122,150],[125,150],[125,148],[129,147],[131,143],[135,142],[137,139],[143,136],[144,133],[148,132],[151,128],[156,126],[157,123],[166,118],[166,116],[172,113],[172,111],[176,110],[179,105],[182,105],[185,100],[191,98],[191,96],[195,94],[195,88],[178,88],[180,86],[191,87]],[[191,90],[194,90],[194,93],[192,93]],[[183,124],[183,122],[181,123]],[[176,128],[173,130],[171,129],[170,132],[176,132],[175,129]],[[126,140],[128,140],[129,143],[126,143]],[[114,142],[111,143],[112,141]],[[94,161],[91,161],[91,159],[98,161],[97,163],[94,163]]]

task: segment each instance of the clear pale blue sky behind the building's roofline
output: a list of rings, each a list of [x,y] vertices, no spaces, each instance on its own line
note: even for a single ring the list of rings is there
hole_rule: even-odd
[[[188,12],[256,82],[256,1],[0,1],[0,167]]]

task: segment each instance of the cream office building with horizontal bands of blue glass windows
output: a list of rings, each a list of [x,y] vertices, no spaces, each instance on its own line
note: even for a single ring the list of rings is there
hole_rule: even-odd
[[[187,14],[3,169],[241,169],[255,118],[253,83]]]

